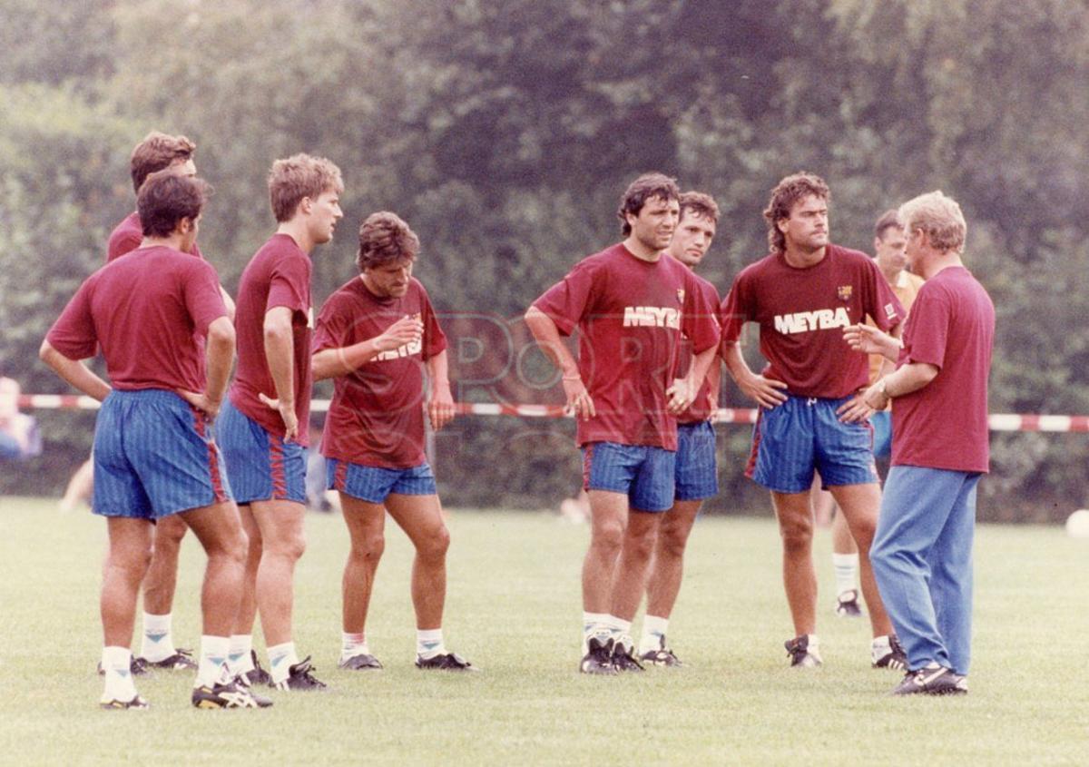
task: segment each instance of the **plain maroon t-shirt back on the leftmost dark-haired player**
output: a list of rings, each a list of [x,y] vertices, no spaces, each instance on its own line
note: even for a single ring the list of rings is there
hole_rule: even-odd
[[[70,360],[101,346],[114,389],[204,391],[195,336],[227,316],[208,261],[166,246],[107,264],[87,278],[46,337]]]

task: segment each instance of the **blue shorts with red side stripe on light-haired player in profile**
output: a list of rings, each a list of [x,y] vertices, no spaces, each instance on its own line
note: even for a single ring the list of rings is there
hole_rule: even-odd
[[[240,504],[269,500],[306,502],[306,448],[266,431],[230,400],[219,412],[216,433],[231,489]]]

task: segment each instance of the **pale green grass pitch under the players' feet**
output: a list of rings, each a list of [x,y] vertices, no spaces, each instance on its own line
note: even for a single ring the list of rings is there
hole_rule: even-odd
[[[198,711],[192,680],[138,679],[148,711],[100,711],[97,589],[105,524],[52,501],[0,498],[0,762],[17,764],[1085,764],[1089,541],[982,526],[964,698],[890,699],[866,621],[832,616],[818,540],[824,667],[786,668],[791,635],[770,519],[705,519],[670,637],[689,663],[616,679],[576,673],[586,527],[543,513],[454,511],[446,644],[484,672],[412,667],[411,549],[390,523],[368,638],[381,672],[337,669],[346,531],[307,519],[296,644],[325,694],[265,711]],[[174,637],[199,637],[199,546],[183,546]],[[636,623],[638,625],[638,623]]]

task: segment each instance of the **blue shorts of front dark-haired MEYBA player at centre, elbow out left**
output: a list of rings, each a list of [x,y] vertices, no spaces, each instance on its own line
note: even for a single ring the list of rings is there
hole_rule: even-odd
[[[638,511],[669,511],[676,455],[647,445],[590,442],[583,447],[583,487],[623,492]]]

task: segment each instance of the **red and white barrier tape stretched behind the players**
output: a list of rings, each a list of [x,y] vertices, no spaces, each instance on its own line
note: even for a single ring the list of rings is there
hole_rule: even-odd
[[[97,410],[98,400],[75,394],[20,394],[19,406],[33,410]],[[329,400],[314,400],[310,410],[323,413]],[[566,417],[562,405],[509,405],[492,402],[460,402],[458,415],[515,415],[523,418]],[[755,424],[756,411],[751,409],[719,410],[720,424]],[[992,413],[989,418],[992,431],[1089,431],[1089,415],[1019,415]]]

